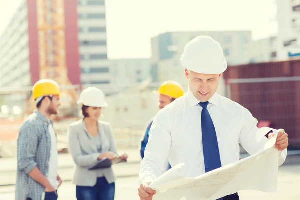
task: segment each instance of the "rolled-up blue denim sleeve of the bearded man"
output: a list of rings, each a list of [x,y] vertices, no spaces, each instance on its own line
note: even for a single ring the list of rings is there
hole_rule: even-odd
[[[32,124],[24,126],[19,132],[17,141],[18,168],[24,170],[27,174],[37,166],[34,158],[38,146],[38,137],[37,128]]]

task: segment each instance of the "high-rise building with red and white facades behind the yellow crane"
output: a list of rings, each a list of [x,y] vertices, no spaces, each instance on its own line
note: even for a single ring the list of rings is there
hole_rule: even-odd
[[[43,56],[46,56],[45,63],[49,64],[57,53],[64,54],[67,78],[71,84],[81,83],[84,87],[110,83],[105,0],[64,0],[61,10],[56,10],[57,15],[51,19],[53,24],[57,23],[58,13],[63,14],[63,21],[60,22],[63,37],[59,37],[60,33],[55,37],[51,28],[56,27],[43,27],[41,13],[38,12],[41,6],[56,6],[57,2],[22,0],[0,37],[1,87],[33,85],[42,78]],[[49,30],[45,32],[45,28]],[[41,34],[47,36],[44,38]],[[41,49],[45,45],[43,52]],[[58,45],[64,45],[64,52],[53,51],[51,54],[51,50]]]

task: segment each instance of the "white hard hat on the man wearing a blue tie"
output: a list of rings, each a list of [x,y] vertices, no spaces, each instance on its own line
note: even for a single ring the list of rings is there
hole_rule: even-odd
[[[180,60],[184,68],[196,73],[219,74],[227,69],[221,45],[209,36],[197,36],[188,42]]]

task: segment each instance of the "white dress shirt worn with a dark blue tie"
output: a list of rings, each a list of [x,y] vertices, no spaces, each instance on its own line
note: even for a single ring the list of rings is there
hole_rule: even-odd
[[[149,132],[145,156],[140,164],[141,182],[152,182],[164,172],[165,160],[171,166],[184,163],[184,176],[196,177],[205,173],[200,101],[188,90],[155,116]],[[255,139],[257,119],[240,104],[215,93],[207,106],[212,118],[222,166],[239,160],[239,143],[255,154],[268,141]],[[286,149],[285,149],[286,151]],[[286,153],[279,151],[279,165]]]

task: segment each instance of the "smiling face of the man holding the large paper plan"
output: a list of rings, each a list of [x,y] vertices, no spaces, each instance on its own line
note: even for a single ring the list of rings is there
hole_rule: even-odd
[[[209,101],[216,92],[221,74],[202,74],[185,69],[189,90],[201,102]]]

